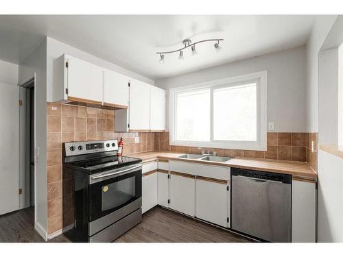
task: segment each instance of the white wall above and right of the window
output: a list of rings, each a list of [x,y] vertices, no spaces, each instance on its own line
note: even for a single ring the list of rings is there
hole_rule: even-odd
[[[306,132],[305,65],[306,49],[303,46],[185,75],[158,79],[155,85],[169,89],[266,70],[268,71],[268,121],[274,121],[276,132]],[[167,116],[168,109],[169,103],[167,103]],[[167,123],[168,121],[169,119]]]

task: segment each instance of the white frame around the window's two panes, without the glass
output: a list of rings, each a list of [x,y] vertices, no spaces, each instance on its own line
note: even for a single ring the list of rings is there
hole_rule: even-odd
[[[213,140],[213,90],[224,88],[230,85],[246,84],[257,82],[257,141],[233,141],[233,140]],[[210,88],[211,90],[211,140],[210,141],[187,141],[175,140],[176,132],[176,94]],[[201,110],[199,110],[201,112]],[[259,71],[225,79],[217,79],[199,84],[192,84],[178,88],[169,89],[169,144],[189,147],[211,147],[224,149],[242,150],[267,150],[267,71]]]

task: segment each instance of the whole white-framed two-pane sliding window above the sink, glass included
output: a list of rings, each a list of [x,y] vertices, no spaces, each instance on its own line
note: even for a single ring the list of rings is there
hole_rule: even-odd
[[[171,145],[266,150],[266,96],[266,71],[171,89]]]

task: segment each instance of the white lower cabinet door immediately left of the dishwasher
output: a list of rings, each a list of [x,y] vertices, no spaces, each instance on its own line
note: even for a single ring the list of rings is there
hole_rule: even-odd
[[[227,227],[228,191],[225,180],[197,177],[196,217]]]

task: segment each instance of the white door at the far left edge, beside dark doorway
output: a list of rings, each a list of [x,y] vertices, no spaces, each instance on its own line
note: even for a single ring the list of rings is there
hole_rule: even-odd
[[[0,83],[0,215],[19,209],[19,87]]]

